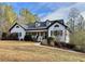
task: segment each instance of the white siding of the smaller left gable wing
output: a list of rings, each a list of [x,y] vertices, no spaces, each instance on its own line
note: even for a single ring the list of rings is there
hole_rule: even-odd
[[[18,28],[16,27],[18,26]],[[11,34],[12,33],[22,33],[22,36],[18,37],[19,39],[24,39],[25,35],[26,35],[26,31],[23,27],[20,27],[19,25],[15,25],[12,29],[11,29]]]

